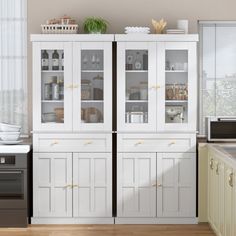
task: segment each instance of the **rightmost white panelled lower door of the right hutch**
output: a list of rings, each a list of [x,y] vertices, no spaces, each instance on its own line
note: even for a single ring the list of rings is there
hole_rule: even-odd
[[[196,154],[157,154],[157,216],[196,216]]]

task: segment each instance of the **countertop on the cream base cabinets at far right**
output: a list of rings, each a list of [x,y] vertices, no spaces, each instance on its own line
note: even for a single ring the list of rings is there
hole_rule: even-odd
[[[222,161],[226,162],[228,165],[236,168],[236,143],[222,143],[222,144],[207,144],[208,148],[210,148],[213,152],[218,154],[218,158]],[[233,152],[226,151],[225,148],[232,148]]]

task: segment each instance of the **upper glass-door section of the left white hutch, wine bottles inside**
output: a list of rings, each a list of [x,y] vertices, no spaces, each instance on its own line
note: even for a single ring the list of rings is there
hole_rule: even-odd
[[[32,35],[34,131],[112,131],[112,35]]]

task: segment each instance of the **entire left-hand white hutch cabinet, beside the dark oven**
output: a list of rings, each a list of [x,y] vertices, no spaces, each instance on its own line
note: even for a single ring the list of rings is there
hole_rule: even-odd
[[[114,223],[114,35],[32,35],[33,223]]]

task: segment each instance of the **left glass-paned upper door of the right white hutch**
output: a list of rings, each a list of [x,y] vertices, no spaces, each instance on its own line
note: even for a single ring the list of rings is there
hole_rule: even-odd
[[[155,131],[155,51],[152,43],[118,45],[118,131]]]

